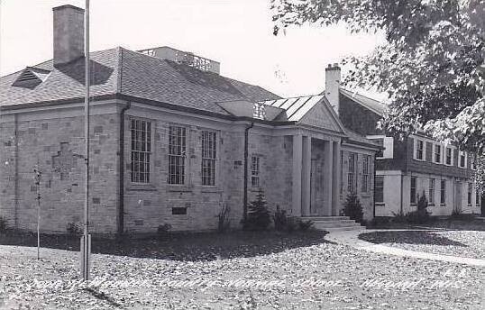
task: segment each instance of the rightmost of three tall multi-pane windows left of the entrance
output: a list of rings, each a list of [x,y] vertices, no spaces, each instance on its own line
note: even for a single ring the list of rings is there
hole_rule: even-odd
[[[202,185],[215,186],[216,160],[215,132],[202,132]]]

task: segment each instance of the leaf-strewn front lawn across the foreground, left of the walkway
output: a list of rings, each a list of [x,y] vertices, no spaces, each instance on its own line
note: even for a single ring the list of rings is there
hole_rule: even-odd
[[[30,242],[27,239],[23,242]],[[199,233],[93,243],[95,251],[104,254],[93,255],[94,280],[87,284],[78,281],[76,251],[50,244],[38,261],[34,247],[0,245],[0,308],[483,309],[485,305],[485,269],[359,251],[326,242],[322,232]]]

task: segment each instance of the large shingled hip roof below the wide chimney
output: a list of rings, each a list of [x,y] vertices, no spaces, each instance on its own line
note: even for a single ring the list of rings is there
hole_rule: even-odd
[[[121,94],[216,114],[228,114],[216,102],[279,98],[261,87],[120,47],[91,52],[90,60],[92,96]],[[0,78],[0,105],[84,96],[84,59],[56,68],[48,60],[32,68],[49,70],[49,78],[32,89],[13,86],[23,71]]]

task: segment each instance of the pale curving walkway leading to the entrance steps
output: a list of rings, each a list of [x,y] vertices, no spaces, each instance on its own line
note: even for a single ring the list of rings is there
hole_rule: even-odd
[[[459,264],[466,264],[471,266],[485,267],[485,260],[470,259],[459,256],[433,254],[423,251],[409,251],[395,247],[389,247],[385,245],[375,244],[371,242],[365,242],[359,239],[359,234],[365,232],[389,232],[389,231],[408,231],[408,230],[361,230],[361,231],[343,231],[343,232],[330,232],[325,236],[325,239],[331,242],[337,242],[345,245],[352,246],[358,250],[372,251],[375,253],[396,255],[400,257],[411,257],[423,260],[440,260]]]

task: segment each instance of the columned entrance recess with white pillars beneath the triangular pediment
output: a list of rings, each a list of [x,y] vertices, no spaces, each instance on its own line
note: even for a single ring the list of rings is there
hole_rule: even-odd
[[[336,216],[340,187],[340,137],[293,135],[292,214]]]

